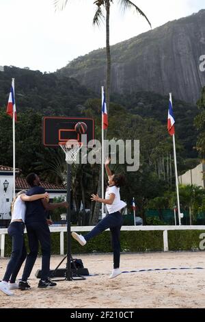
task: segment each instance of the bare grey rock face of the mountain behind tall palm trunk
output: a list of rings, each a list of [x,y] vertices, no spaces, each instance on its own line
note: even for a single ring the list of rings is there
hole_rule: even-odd
[[[111,46],[111,63],[112,92],[172,92],[178,99],[195,103],[205,86],[205,10]],[[98,49],[57,73],[100,92],[105,64],[105,49]]]

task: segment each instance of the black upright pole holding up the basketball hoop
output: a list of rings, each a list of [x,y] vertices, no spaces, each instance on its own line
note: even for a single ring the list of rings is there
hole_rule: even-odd
[[[71,165],[67,163],[67,195],[66,201],[68,202],[67,208],[67,271],[66,280],[72,281],[71,274],[71,238],[70,238],[70,181],[71,181]]]

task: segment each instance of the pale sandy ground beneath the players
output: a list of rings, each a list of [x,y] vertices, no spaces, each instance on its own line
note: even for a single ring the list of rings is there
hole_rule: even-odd
[[[51,269],[62,256],[51,258]],[[205,252],[124,253],[122,271],[172,267],[204,267],[174,271],[122,273],[109,280],[112,254],[77,255],[90,274],[83,281],[57,282],[52,289],[40,289],[35,277],[41,258],[29,279],[30,290],[14,290],[9,297],[0,292],[1,308],[204,308]],[[0,259],[0,278],[7,258]],[[66,267],[64,262],[61,268]]]

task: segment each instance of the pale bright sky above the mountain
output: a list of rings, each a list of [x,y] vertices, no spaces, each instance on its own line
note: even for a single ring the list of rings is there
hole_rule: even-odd
[[[134,10],[122,12],[113,0],[110,44],[147,32],[150,27]],[[204,0],[133,0],[152,23],[168,21],[204,9]],[[105,47],[105,23],[94,26],[94,0],[68,0],[55,11],[53,0],[0,0],[0,65],[53,72],[80,55]]]

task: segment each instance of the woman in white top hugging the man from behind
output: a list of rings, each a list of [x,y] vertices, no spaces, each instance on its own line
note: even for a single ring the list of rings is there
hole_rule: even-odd
[[[33,196],[27,196],[25,193],[26,190],[17,193],[16,198],[12,203],[12,220],[8,227],[8,234],[12,238],[12,255],[8,262],[3,280],[0,282],[0,290],[6,295],[13,295],[11,290],[18,288],[16,276],[27,256],[24,242],[25,201],[35,201],[43,198],[47,199],[49,197],[48,193]],[[28,285],[28,288],[29,287],[30,286]]]

